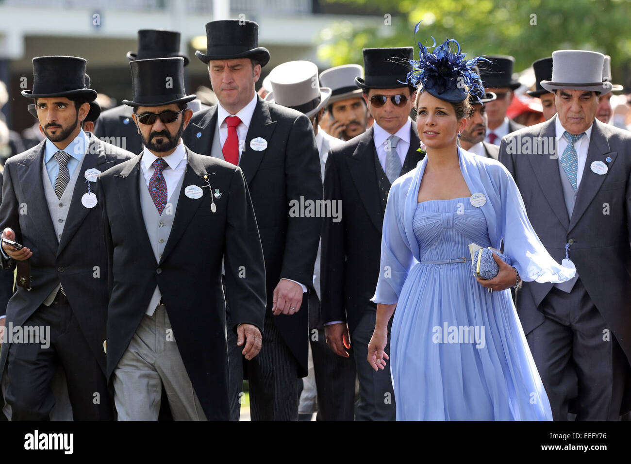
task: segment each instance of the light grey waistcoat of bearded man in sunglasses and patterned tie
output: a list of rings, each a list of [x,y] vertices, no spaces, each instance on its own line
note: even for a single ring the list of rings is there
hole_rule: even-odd
[[[156,258],[156,262],[160,262],[164,248],[167,246],[168,237],[171,234],[173,227],[173,220],[175,218],[175,210],[177,209],[177,201],[180,198],[180,191],[182,190],[182,183],[184,182],[184,174],[180,177],[180,180],[175,186],[175,191],[170,195],[170,201],[165,206],[162,214],[158,214],[158,208],[153,203],[153,198],[149,193],[147,184],[144,181],[144,175],[141,170],[138,178],[140,179],[140,208],[143,210],[144,227],[147,229],[147,235],[149,235],[149,242],[151,243],[151,249]],[[155,311],[156,306],[160,302],[160,289],[156,285],[153,290],[153,296],[147,307],[146,314],[151,316]]]

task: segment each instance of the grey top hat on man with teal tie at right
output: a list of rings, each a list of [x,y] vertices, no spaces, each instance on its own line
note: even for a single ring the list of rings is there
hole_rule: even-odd
[[[554,92],[557,89],[611,92],[611,82],[603,81],[604,55],[584,50],[552,52],[552,78],[541,81],[541,86]]]

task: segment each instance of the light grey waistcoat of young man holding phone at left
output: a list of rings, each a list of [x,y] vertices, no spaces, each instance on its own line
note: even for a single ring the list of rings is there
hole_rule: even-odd
[[[46,203],[48,205],[48,211],[50,213],[50,219],[52,220],[52,227],[55,229],[55,235],[57,237],[57,242],[61,241],[61,234],[64,233],[64,225],[66,225],[66,220],[68,219],[68,210],[70,209],[70,203],[73,199],[74,186],[77,183],[77,179],[83,179],[85,181],[85,177],[83,176],[83,161],[85,160],[85,154],[81,161],[74,169],[73,176],[68,181],[68,185],[62,193],[61,198],[57,198],[57,194],[55,193],[55,187],[50,182],[50,176],[48,175],[48,171],[46,170],[45,162],[42,164],[42,181],[44,182],[44,195],[46,197]],[[80,182],[83,184],[83,182]],[[92,185],[93,186],[93,185]],[[80,187],[81,188],[81,185]],[[88,193],[88,186],[85,186],[85,193]],[[85,208],[85,206],[84,206]],[[44,300],[45,306],[50,306],[57,296],[57,292],[59,292],[59,287],[61,287],[61,283],[55,287],[50,295],[46,297]]]

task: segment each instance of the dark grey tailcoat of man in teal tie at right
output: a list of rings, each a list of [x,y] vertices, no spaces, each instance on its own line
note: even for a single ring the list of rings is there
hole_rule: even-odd
[[[543,141],[555,140],[555,121],[524,128],[502,138],[499,160],[509,170],[521,191],[528,217],[551,256],[559,263],[570,243],[570,259],[576,265],[589,297],[609,324],[631,359],[631,133],[603,124],[592,126],[581,184],[572,218],[568,217],[555,144],[546,149]],[[536,143],[541,153],[511,153],[513,146]],[[594,161],[608,165],[599,175],[591,170]],[[528,333],[543,323],[538,311],[552,283],[523,282],[517,292],[517,312]]]

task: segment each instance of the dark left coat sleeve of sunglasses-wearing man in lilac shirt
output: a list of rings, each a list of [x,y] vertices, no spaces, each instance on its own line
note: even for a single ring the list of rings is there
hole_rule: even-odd
[[[325,201],[340,201],[342,199],[339,182],[339,167],[335,155],[329,153],[324,167],[324,199]],[[324,218],[322,226],[321,250],[321,296],[322,322],[346,321],[344,304],[344,282],[346,273],[346,247],[344,230],[346,228],[345,215],[340,211],[339,221],[333,217]]]

